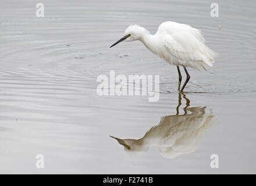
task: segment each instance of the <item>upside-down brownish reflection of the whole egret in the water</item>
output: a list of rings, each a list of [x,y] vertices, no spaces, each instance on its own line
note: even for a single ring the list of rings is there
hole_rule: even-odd
[[[183,153],[195,151],[198,137],[207,128],[213,115],[205,115],[206,107],[189,108],[189,99],[185,95],[183,98],[186,99],[184,115],[179,115],[182,99],[179,94],[177,114],[162,117],[158,126],[150,128],[144,137],[138,140],[111,137],[118,140],[129,152],[146,151],[149,146],[157,146],[163,157],[175,158]]]

